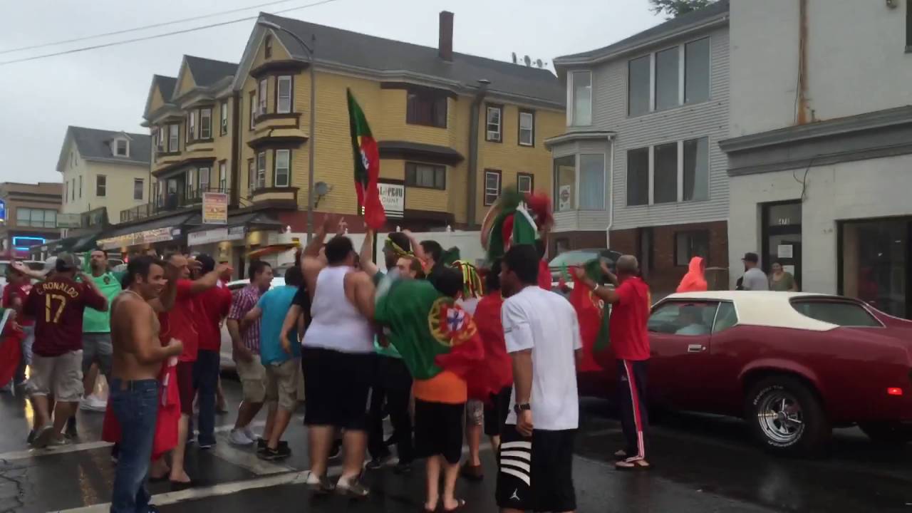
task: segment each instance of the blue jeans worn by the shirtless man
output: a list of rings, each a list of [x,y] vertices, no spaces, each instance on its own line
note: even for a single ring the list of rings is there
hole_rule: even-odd
[[[155,421],[159,414],[159,382],[111,380],[110,405],[120,424],[120,454],[114,474],[111,513],[149,511],[149,476]]]

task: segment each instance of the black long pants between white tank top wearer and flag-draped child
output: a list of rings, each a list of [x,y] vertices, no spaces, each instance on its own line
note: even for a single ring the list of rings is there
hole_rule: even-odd
[[[368,424],[368,451],[371,457],[389,455],[389,448],[383,440],[383,403],[387,404],[389,420],[393,424],[399,462],[411,463],[414,448],[411,440],[411,374],[399,358],[378,355],[377,373],[370,393],[370,414]]]

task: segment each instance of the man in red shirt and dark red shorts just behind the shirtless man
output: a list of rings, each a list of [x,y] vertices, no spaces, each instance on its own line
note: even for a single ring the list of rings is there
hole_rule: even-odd
[[[225,266],[216,267],[212,272],[193,281],[190,279],[190,268],[200,265],[195,260],[188,260],[179,253],[166,258],[173,267],[180,269],[181,278],[177,281],[174,307],[167,312],[159,313],[161,331],[159,338],[163,345],[171,339],[181,340],[183,351],[177,364],[177,387],[181,396],[181,420],[178,423],[177,446],[171,454],[171,483],[178,486],[191,485],[190,476],[183,468],[183,456],[187,448],[187,438],[190,433],[190,417],[193,414],[193,398],[196,390],[193,387],[193,364],[199,351],[200,335],[199,324],[202,323],[202,306],[197,296],[210,288],[215,287],[219,276]],[[167,468],[163,462],[157,462],[153,468],[152,476],[160,477],[161,470]]]

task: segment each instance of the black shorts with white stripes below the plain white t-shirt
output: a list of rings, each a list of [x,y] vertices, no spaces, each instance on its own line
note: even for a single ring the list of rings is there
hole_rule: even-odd
[[[523,511],[574,511],[573,441],[575,429],[534,430],[524,437],[513,424],[503,426],[497,455],[497,506]]]

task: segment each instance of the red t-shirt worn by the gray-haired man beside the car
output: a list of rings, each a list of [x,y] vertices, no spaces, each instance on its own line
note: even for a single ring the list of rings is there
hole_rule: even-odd
[[[649,287],[638,277],[628,277],[617,287],[620,300],[611,306],[609,334],[619,360],[649,359]]]

